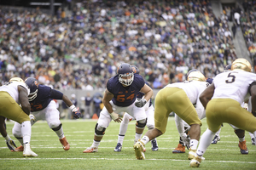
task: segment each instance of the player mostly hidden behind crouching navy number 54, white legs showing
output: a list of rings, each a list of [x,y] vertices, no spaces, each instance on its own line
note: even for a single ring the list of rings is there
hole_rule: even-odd
[[[137,66],[135,65],[131,65],[132,67],[132,71],[134,74],[139,74],[139,70],[137,68]],[[149,86],[148,82],[146,82],[146,84]],[[137,94],[137,99],[143,99],[144,94],[139,92]],[[143,106],[143,108],[146,111],[146,115],[147,115],[147,127],[148,130],[150,129],[154,129],[154,106],[152,105],[151,99],[148,100],[147,104]],[[114,148],[113,151],[121,151],[122,150],[122,145],[123,145],[123,141],[125,139],[125,133],[127,131],[128,128],[128,123],[131,122],[132,120],[135,120],[134,117],[130,116],[129,114],[125,113],[123,116],[123,121],[120,124],[119,127],[119,138],[118,138],[118,143],[116,144],[116,147]],[[140,135],[135,135],[135,137],[139,137]],[[137,142],[138,139],[134,140],[134,144]],[[151,150],[153,151],[157,151],[158,150],[158,144],[156,139],[152,139],[151,140],[151,145],[152,148]]]

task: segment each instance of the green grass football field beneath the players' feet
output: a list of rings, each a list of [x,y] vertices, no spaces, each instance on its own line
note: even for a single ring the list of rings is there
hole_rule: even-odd
[[[70,150],[63,150],[56,134],[46,122],[39,121],[32,126],[32,150],[38,157],[24,158],[22,152],[10,152],[2,138],[0,142],[0,169],[189,169],[188,150],[184,154],[172,154],[177,147],[178,133],[173,117],[169,117],[166,133],[157,138],[159,150],[152,151],[146,144],[146,160],[136,160],[133,150],[135,123],[130,122],[121,152],[114,152],[119,134],[119,123],[111,122],[96,153],[83,153],[92,144],[94,120],[61,121]],[[201,133],[207,128],[202,120]],[[11,129],[14,122],[7,122],[9,136],[15,140]],[[146,127],[147,128],[147,127]],[[147,129],[148,130],[148,129]],[[144,133],[147,131],[145,130]],[[256,146],[251,144],[246,132],[248,155],[241,155],[238,138],[232,127],[224,124],[218,144],[211,144],[201,162],[202,169],[256,169]]]

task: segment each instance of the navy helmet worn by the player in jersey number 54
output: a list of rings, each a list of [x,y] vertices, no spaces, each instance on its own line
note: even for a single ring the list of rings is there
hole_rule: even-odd
[[[133,71],[131,65],[122,63],[118,68],[119,82],[125,86],[130,86],[133,82]]]

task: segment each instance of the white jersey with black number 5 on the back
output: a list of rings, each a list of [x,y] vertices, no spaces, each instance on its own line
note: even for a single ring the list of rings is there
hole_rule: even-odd
[[[235,70],[220,73],[212,81],[215,87],[212,99],[235,99],[241,105],[254,81],[256,74],[252,72]]]

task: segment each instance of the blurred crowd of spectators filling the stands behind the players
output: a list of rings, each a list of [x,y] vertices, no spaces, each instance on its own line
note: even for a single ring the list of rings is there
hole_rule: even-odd
[[[0,83],[36,77],[53,88],[104,89],[122,62],[153,88],[190,69],[215,77],[236,59],[228,19],[209,0],[78,3],[53,17],[40,8],[1,8]]]

